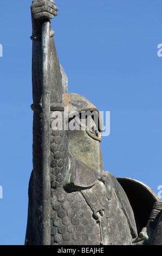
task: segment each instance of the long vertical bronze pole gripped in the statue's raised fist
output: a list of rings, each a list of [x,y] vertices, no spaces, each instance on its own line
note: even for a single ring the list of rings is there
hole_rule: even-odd
[[[50,22],[42,25],[42,245],[50,245]]]

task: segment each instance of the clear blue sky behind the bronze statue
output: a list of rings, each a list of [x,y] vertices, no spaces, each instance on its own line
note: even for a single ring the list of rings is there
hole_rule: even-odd
[[[53,21],[69,92],[111,112],[104,169],[162,185],[161,0],[57,0]],[[29,0],[1,1],[0,245],[23,245],[32,170],[33,112]]]

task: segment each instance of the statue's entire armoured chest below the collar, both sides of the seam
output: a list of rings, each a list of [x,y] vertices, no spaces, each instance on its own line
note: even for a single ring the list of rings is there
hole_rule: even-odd
[[[128,245],[132,237],[114,191],[98,181],[89,190],[56,192],[51,200],[51,244]]]

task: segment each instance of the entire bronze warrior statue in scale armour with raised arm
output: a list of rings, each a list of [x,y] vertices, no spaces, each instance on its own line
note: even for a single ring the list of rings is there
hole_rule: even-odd
[[[160,245],[161,200],[142,182],[103,170],[99,111],[68,93],[50,23],[55,4],[31,4],[33,172],[25,245]],[[65,108],[74,115],[65,117]],[[87,111],[98,117],[86,115],[90,129],[81,117]],[[74,119],[82,129],[54,129],[56,116],[58,126]]]

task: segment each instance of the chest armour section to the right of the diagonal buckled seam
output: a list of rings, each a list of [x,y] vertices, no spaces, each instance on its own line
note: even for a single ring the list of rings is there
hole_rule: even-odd
[[[99,223],[102,245],[131,245],[131,230],[115,188],[98,180],[82,193]]]

